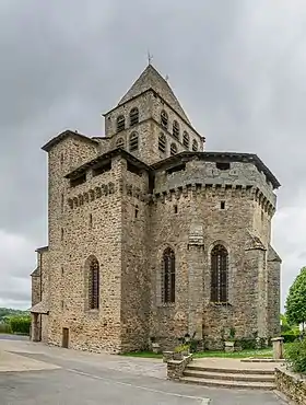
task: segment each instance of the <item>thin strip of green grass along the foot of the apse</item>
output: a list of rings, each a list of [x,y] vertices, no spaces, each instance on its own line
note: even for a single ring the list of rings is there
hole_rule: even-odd
[[[289,347],[291,344],[285,344],[285,350],[286,347]],[[153,359],[161,359],[163,358],[163,355],[156,355],[152,351],[134,351],[134,352],[126,352],[121,356],[127,357],[143,357],[143,358],[153,358]],[[223,357],[228,359],[245,359],[248,357],[255,357],[258,359],[269,359],[273,357],[272,348],[268,347],[267,349],[260,349],[260,350],[242,350],[242,351],[234,351],[234,352],[225,352],[225,351],[198,351],[193,354],[195,359],[203,358],[203,357]]]

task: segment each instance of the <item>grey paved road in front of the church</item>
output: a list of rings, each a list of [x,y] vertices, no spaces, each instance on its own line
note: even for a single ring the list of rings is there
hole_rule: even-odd
[[[283,404],[269,392],[205,389],[167,381],[164,366],[156,361],[19,344],[19,356],[60,369],[1,372],[1,405]],[[15,342],[13,345],[19,347]]]

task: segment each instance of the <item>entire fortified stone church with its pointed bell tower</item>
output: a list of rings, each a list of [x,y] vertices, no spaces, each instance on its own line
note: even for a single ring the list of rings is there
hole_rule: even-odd
[[[149,63],[104,114],[105,136],[48,141],[48,246],[32,273],[32,339],[123,352],[185,334],[279,333],[280,184],[252,153],[204,151]]]

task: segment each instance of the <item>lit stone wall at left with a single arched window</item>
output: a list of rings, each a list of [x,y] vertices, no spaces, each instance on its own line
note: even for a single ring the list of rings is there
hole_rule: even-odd
[[[61,153],[67,158],[62,165]],[[76,187],[63,177],[95,155],[91,144],[76,147],[69,139],[49,153],[48,336],[50,344],[60,346],[66,327],[70,347],[116,351],[120,347],[121,162],[111,162],[111,173],[93,176],[90,171],[86,182]],[[80,204],[71,208],[69,201],[74,198]],[[91,255],[101,266],[101,311],[89,311],[85,304],[84,271]]]

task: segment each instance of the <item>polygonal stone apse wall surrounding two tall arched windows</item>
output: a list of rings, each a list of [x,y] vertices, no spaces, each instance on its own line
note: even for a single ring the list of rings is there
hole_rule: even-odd
[[[231,170],[220,172],[214,163],[196,160],[187,162],[185,170],[156,174],[150,223],[151,335],[164,348],[173,348],[176,338],[187,332],[196,332],[200,339],[204,335],[209,348],[222,348],[222,335],[231,327],[237,338],[268,337],[271,316],[273,325],[278,322],[278,301],[275,311],[268,313],[268,289],[273,288],[274,298],[280,292],[279,268],[268,284],[271,212],[260,208],[254,187],[263,188],[271,211],[274,195],[251,164],[233,163]],[[262,209],[266,223],[260,228],[255,217]],[[210,302],[210,252],[216,243],[228,251],[227,305]],[[165,305],[161,302],[161,262],[167,246],[176,254],[177,300]]]

